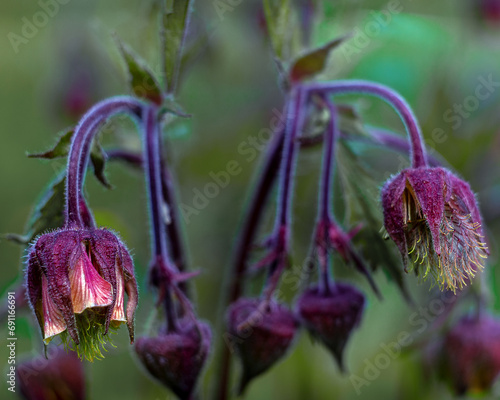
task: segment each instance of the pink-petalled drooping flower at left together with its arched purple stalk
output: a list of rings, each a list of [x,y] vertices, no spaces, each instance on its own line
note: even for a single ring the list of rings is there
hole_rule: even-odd
[[[31,246],[27,293],[47,344],[60,335],[89,360],[102,357],[109,329],[126,323],[134,340],[137,283],[130,254],[117,235],[95,228],[82,193],[90,144],[106,119],[132,116],[142,103],[117,97],[97,104],[75,130],[66,176],[65,226],[41,235]],[[124,311],[124,295],[128,295]]]

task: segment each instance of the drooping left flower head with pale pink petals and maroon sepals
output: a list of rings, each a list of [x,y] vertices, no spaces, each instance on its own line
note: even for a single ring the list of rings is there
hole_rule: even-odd
[[[93,360],[102,357],[110,327],[126,322],[134,339],[132,259],[106,229],[60,229],[40,236],[29,253],[27,291],[46,344],[61,335],[80,357]]]

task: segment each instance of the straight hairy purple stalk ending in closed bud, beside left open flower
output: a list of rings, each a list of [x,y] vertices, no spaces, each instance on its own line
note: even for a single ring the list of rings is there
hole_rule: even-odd
[[[193,274],[180,273],[167,246],[168,205],[165,202],[160,123],[157,107],[143,111],[144,170],[152,228],[150,284],[158,290],[166,325],[157,336],[137,340],[135,352],[146,370],[180,399],[191,399],[210,350],[210,327],[197,320],[179,283]],[[164,166],[165,168],[165,166]],[[175,299],[180,307],[176,306]]]

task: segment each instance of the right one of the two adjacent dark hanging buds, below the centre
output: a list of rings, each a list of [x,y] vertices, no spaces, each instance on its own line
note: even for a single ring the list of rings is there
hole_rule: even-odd
[[[365,297],[354,286],[335,283],[329,291],[311,287],[297,301],[303,325],[333,354],[345,371],[344,348],[363,315]]]

